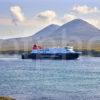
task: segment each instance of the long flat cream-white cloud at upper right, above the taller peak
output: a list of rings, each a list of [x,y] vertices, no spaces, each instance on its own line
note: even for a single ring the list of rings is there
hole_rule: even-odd
[[[89,13],[97,13],[99,12],[99,9],[97,7],[92,8],[87,5],[83,5],[83,6],[77,5],[73,7],[72,11],[80,14],[89,14]]]

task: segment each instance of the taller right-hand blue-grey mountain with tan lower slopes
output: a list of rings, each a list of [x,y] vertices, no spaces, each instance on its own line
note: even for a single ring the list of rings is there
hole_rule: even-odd
[[[51,44],[57,46],[71,44],[82,49],[89,49],[90,44],[93,44],[93,48],[100,49],[100,30],[82,19],[75,19],[62,25],[45,41],[47,41],[45,45],[53,41]]]

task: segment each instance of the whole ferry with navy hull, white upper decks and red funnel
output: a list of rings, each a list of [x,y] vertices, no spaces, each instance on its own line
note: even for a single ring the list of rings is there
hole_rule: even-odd
[[[79,58],[80,52],[74,51],[73,47],[65,48],[42,48],[33,45],[30,53],[22,54],[22,59],[65,59],[74,60]]]

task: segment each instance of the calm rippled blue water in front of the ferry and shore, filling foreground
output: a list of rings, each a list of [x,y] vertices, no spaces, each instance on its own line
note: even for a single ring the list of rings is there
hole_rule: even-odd
[[[0,95],[17,100],[100,100],[100,58],[61,61],[0,56]]]

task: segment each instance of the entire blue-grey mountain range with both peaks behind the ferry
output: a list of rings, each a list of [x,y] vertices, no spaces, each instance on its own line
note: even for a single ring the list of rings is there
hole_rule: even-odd
[[[33,43],[44,47],[70,44],[79,49],[100,50],[100,30],[82,19],[75,19],[62,26],[49,25],[29,37],[0,40],[0,51],[27,51]]]

